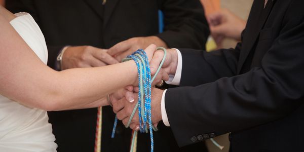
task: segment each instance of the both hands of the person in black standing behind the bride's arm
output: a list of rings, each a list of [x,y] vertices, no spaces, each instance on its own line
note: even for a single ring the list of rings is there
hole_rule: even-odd
[[[167,48],[166,43],[157,36],[133,37],[108,50],[92,46],[67,47],[62,56],[62,69],[117,64],[134,51],[146,48],[151,43]]]

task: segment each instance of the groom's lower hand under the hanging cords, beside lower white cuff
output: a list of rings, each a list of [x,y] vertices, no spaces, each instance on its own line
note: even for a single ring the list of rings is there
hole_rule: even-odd
[[[153,88],[151,92],[151,119],[154,126],[157,126],[157,124],[162,120],[161,100],[163,92],[163,90],[156,88]],[[122,120],[125,126],[128,124],[132,111],[137,104],[137,95],[134,94],[134,96],[136,102],[128,102],[125,98],[122,98],[117,102],[113,102],[113,111],[117,113],[117,118]],[[138,109],[132,118],[130,128],[133,130],[139,130]]]

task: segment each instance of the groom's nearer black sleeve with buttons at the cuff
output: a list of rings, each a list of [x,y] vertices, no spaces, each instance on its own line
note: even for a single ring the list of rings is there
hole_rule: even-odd
[[[261,67],[197,87],[167,90],[167,116],[179,146],[194,143],[192,136],[221,135],[283,118],[303,103],[304,10],[297,3],[301,1],[293,1],[287,10],[280,35]],[[198,64],[207,62],[203,56],[194,59]],[[209,74],[205,69],[199,76]],[[182,72],[188,79],[194,74]]]

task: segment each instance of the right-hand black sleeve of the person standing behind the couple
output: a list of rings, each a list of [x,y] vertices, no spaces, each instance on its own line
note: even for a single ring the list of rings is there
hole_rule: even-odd
[[[205,49],[209,27],[202,4],[197,0],[162,2],[164,32],[157,36],[169,48]]]

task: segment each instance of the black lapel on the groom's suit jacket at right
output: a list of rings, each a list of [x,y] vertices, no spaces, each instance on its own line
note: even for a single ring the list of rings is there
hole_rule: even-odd
[[[272,0],[269,0],[268,3],[269,4],[265,7],[265,9],[263,8],[264,1],[262,0],[254,1],[252,5],[243,37],[242,50],[238,63],[238,73],[240,73],[245,60],[247,59],[250,51],[252,51],[253,46],[256,44],[256,39],[259,35],[259,31],[263,28],[263,25],[267,21],[268,16],[272,10]]]

